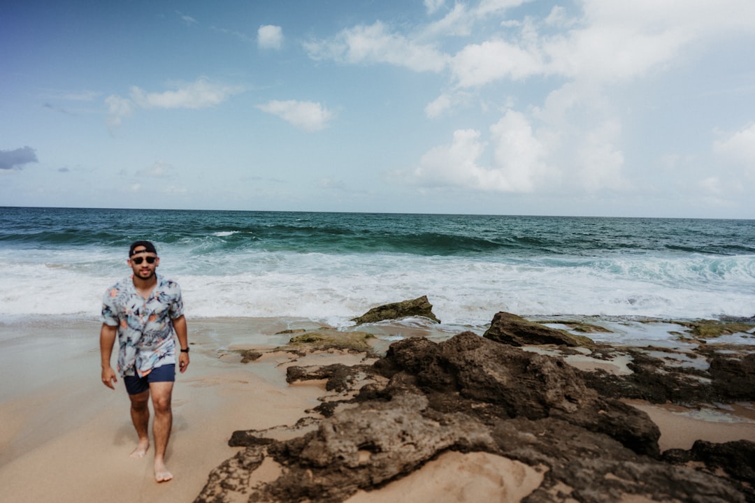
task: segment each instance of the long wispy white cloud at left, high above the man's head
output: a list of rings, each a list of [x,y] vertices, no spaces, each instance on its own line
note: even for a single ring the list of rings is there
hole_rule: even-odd
[[[210,108],[220,105],[240,92],[242,87],[220,84],[205,77],[162,93],[149,93],[140,87],[132,86],[128,98],[112,94],[105,99],[108,108],[106,121],[110,127],[119,127],[137,109]]]

